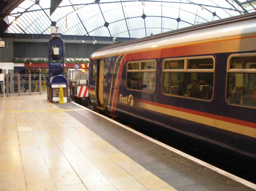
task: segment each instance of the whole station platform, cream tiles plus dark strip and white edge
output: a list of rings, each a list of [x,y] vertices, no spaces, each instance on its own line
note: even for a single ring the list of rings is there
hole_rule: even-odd
[[[74,103],[0,97],[0,190],[255,190]]]

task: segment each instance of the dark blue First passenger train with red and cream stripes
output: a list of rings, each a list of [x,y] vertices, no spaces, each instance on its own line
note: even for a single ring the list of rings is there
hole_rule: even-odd
[[[255,174],[256,13],[102,48],[89,84],[96,110]]]

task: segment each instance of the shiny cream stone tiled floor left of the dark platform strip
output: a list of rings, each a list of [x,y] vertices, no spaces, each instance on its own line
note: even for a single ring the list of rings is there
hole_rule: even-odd
[[[0,190],[175,190],[47,101],[0,97]]]

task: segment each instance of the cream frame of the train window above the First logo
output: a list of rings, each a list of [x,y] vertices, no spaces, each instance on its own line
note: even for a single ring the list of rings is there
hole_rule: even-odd
[[[149,62],[149,61],[152,61],[152,62],[155,63],[155,69],[141,69],[141,62]],[[135,63],[135,62],[139,62],[139,69],[138,70],[131,70],[131,69],[129,70],[128,69],[128,65],[130,63]],[[128,72],[155,72],[156,73],[156,66],[157,66],[157,62],[156,62],[155,59],[128,61],[127,62],[127,66],[126,66],[126,80],[125,80],[126,89],[132,90],[132,91],[139,91],[139,92],[148,92],[148,93],[156,92],[156,86],[155,86],[155,90],[154,91],[144,91],[144,90],[141,90],[141,89],[131,89],[131,88],[127,87]],[[157,79],[155,79],[155,80],[157,80]],[[156,84],[156,81],[155,81],[155,84]]]

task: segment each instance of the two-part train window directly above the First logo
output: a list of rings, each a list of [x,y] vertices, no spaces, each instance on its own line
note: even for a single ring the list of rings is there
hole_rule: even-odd
[[[154,92],[156,89],[156,61],[135,61],[127,65],[127,89]]]

